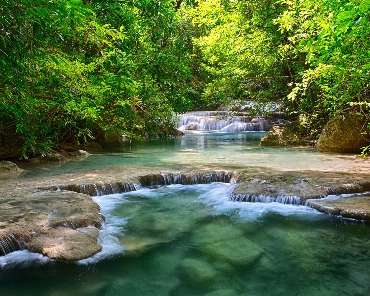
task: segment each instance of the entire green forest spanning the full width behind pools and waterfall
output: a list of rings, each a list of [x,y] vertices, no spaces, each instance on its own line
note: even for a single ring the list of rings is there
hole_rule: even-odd
[[[370,0],[1,1],[1,148],[168,137],[174,114],[225,100],[286,102],[317,137],[369,117],[369,16]]]

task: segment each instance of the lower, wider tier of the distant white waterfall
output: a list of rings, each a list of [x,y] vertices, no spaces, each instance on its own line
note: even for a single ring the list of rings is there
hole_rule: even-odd
[[[272,114],[274,115],[274,114]],[[280,114],[275,116],[251,117],[248,113],[239,112],[188,112],[180,115],[178,129],[181,131],[215,131],[215,132],[260,132],[269,131],[275,125],[290,124]]]

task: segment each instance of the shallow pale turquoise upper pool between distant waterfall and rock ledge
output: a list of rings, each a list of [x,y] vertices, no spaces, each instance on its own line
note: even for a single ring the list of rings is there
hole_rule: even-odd
[[[356,154],[317,152],[310,147],[260,147],[264,132],[185,135],[170,139],[125,142],[124,147],[105,149],[91,157],[73,158],[68,163],[25,165],[24,178],[82,172],[107,166],[159,168],[179,171],[189,166],[212,165],[227,169],[263,166],[282,170],[323,170],[370,173],[368,159]]]

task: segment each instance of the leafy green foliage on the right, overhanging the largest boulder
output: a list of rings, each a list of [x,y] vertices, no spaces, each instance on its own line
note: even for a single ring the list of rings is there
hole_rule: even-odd
[[[276,19],[289,35],[285,50],[304,63],[290,100],[304,101],[309,93],[319,126],[349,107],[369,118],[370,1],[279,3],[287,6]]]

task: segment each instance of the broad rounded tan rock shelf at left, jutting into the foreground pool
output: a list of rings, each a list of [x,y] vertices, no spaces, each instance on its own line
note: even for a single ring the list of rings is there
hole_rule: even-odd
[[[101,227],[100,206],[91,196],[69,191],[0,201],[2,255],[27,249],[53,259],[76,261],[101,250],[97,238],[75,230]]]

